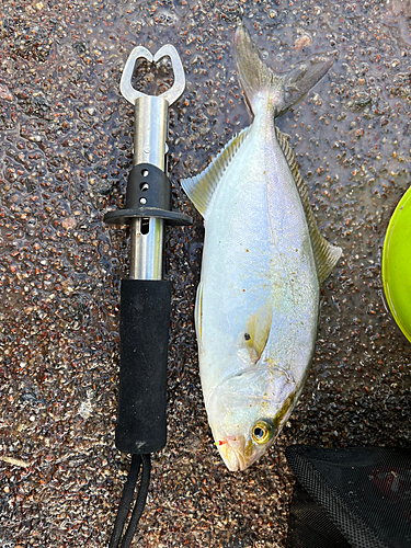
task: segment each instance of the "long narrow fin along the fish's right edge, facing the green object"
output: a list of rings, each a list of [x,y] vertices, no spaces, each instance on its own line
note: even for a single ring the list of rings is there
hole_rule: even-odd
[[[276,127],[275,128],[277,140],[283,149],[284,156],[287,160],[294,181],[298,189],[298,194],[301,199],[304,212],[306,214],[308,230],[311,238],[311,246],[317,267],[317,276],[322,284],[332,269],[335,266],[338,260],[342,254],[341,248],[331,246],[321,235],[318,229],[310,202],[308,198],[307,186],[302,181],[299,172],[297,160],[294,156],[293,149],[288,144],[287,137]]]

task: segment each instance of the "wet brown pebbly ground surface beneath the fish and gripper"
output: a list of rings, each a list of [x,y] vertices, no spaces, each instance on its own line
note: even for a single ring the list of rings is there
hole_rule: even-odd
[[[323,287],[316,355],[277,444],[225,469],[202,401],[193,327],[203,225],[179,186],[249,123],[232,58],[243,18],[267,62],[339,59],[277,121],[323,235],[343,259]],[[134,546],[283,547],[294,478],[284,450],[410,447],[411,345],[387,313],[380,258],[411,165],[411,10],[335,2],[4,0],[0,5],[0,545],[106,546],[129,458],[114,446],[118,288],[133,107],[119,94],[136,45],[172,43],[186,90],[171,111],[173,283],[169,442],[155,457]],[[167,66],[142,89],[170,83]],[[137,83],[136,83],[137,85]]]

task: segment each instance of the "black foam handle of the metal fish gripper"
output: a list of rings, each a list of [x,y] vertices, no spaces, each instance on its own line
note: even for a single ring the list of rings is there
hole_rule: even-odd
[[[170,282],[122,281],[115,444],[123,453],[155,453],[167,443],[170,309]]]

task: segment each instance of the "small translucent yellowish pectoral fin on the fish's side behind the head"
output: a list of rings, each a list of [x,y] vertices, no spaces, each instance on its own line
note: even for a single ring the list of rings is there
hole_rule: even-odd
[[[273,308],[266,302],[261,306],[247,321],[243,338],[251,361],[255,364],[264,352],[273,322]]]

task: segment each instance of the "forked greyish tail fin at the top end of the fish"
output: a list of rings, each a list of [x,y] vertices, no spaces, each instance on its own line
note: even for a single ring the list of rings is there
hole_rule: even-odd
[[[287,72],[275,72],[261,56],[243,24],[235,36],[236,62],[247,101],[254,113],[258,96],[270,93],[273,98],[274,116],[281,116],[300,101],[329,71],[334,53],[316,54],[298,62]]]

